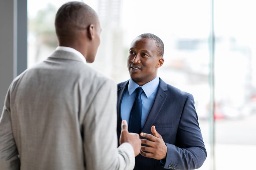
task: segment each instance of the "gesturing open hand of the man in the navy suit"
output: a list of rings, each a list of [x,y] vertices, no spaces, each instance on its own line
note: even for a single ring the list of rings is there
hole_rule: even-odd
[[[149,139],[141,139],[141,143],[146,144],[147,146],[141,147],[140,154],[143,157],[154,158],[158,160],[166,158],[167,146],[165,145],[162,136],[159,135],[155,130],[155,126],[151,127],[151,132],[154,136],[146,133],[140,134],[140,136]],[[144,151],[147,151],[148,153]]]

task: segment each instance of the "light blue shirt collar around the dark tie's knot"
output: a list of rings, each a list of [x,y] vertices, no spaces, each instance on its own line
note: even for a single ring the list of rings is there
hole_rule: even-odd
[[[148,98],[155,91],[158,85],[159,85],[159,77],[157,76],[153,80],[144,84],[141,87]],[[134,92],[134,90],[136,90],[138,87],[139,85],[135,81],[133,81],[132,78],[130,78],[129,84],[128,84],[129,95],[131,95]]]

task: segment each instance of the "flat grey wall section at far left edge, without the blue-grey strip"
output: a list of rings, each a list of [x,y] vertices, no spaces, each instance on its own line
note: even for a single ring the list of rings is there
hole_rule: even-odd
[[[14,78],[14,3],[13,0],[0,1],[0,115],[8,86]]]

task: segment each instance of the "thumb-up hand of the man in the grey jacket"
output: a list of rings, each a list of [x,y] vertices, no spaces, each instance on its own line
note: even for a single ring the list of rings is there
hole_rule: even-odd
[[[129,144],[132,145],[135,157],[139,155],[140,148],[141,148],[140,136],[139,134],[128,132],[128,125],[126,120],[122,121],[122,130],[121,130],[121,135],[119,140],[120,145],[124,142],[128,142]]]

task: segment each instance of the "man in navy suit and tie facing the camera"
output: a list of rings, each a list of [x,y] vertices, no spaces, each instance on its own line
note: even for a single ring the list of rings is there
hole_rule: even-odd
[[[194,99],[157,76],[163,51],[162,40],[153,34],[132,41],[127,58],[131,78],[117,89],[118,139],[122,120],[140,134],[143,146],[135,170],[197,169],[206,159],[206,149]],[[142,105],[135,104],[138,97]]]

